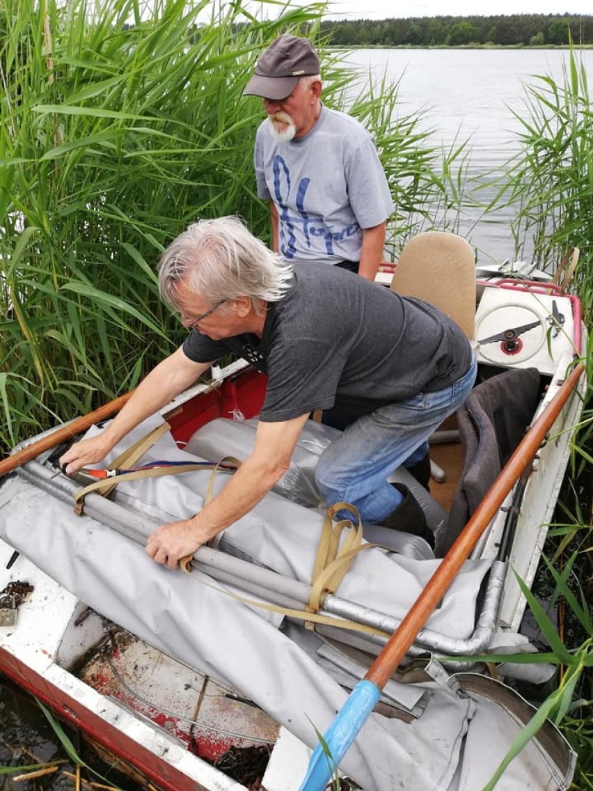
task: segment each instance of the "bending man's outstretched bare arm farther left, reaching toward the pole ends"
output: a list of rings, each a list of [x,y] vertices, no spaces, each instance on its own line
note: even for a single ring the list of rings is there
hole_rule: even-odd
[[[103,459],[122,437],[194,384],[210,365],[211,362],[190,360],[183,353],[183,348],[179,347],[142,380],[130,400],[104,431],[96,437],[75,442],[60,457],[60,464],[67,464],[66,473],[76,472],[85,464],[96,464]]]

